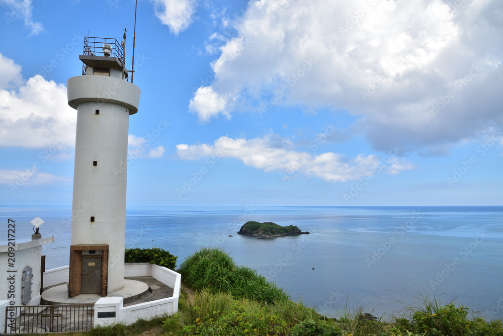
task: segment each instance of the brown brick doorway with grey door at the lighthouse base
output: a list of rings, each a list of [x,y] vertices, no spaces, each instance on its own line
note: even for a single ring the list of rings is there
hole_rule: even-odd
[[[68,297],[108,293],[108,244],[70,245]]]

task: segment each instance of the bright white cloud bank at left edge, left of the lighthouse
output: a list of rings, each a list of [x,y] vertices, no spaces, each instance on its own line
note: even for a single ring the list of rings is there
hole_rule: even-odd
[[[68,106],[66,87],[40,75],[21,82],[21,67],[0,58],[0,68],[13,64],[0,89],[0,146],[58,149],[75,143],[76,111]]]

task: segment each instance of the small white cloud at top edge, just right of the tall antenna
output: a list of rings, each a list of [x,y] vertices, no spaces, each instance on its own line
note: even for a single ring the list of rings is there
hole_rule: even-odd
[[[154,5],[155,15],[172,33],[178,33],[189,28],[197,0],[150,0]]]

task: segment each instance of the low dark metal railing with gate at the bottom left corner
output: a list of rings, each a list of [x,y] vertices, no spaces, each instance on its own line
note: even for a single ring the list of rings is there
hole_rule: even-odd
[[[94,304],[7,306],[5,333],[88,331]]]

